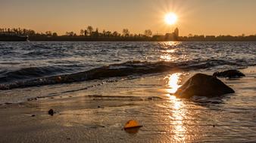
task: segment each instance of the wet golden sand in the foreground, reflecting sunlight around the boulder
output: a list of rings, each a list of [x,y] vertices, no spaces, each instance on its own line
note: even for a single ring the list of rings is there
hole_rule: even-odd
[[[199,71],[0,91],[0,142],[256,141],[256,68],[241,71],[214,99],[173,96]],[[138,132],[123,130],[131,119]]]

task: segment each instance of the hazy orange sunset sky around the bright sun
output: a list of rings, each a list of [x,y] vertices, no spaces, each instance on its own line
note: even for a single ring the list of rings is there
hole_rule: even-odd
[[[164,15],[173,12],[170,26]],[[0,27],[36,32],[80,33],[92,26],[102,31],[180,35],[254,35],[256,0],[0,0]]]

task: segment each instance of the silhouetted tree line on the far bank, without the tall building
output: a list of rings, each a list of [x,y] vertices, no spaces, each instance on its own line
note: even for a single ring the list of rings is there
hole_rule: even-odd
[[[31,41],[172,41],[166,35],[153,35],[150,29],[146,29],[143,34],[133,34],[129,29],[123,29],[121,33],[103,30],[99,32],[98,28],[87,26],[80,29],[80,33],[65,32],[64,35],[58,35],[57,32],[46,31],[36,32],[33,29],[21,28],[0,28],[0,33],[10,33],[17,35],[28,35]],[[256,41],[256,35],[192,35],[179,36],[176,41]]]

